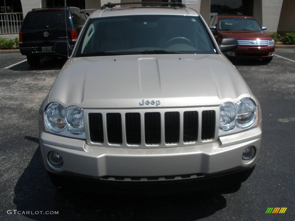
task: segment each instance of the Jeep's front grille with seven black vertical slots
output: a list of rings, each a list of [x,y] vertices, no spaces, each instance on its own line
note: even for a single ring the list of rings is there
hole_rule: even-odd
[[[89,113],[91,143],[169,146],[207,142],[215,138],[215,110],[139,112]]]

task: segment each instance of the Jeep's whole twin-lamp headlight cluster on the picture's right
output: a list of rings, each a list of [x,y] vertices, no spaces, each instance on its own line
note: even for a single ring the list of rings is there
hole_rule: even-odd
[[[250,98],[242,98],[236,104],[223,103],[219,108],[219,129],[222,131],[231,131],[235,127],[240,129],[249,128],[257,118],[258,108]]]

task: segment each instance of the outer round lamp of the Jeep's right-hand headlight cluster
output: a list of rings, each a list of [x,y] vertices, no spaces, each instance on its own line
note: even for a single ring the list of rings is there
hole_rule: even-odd
[[[238,128],[247,128],[253,124],[257,115],[257,107],[250,98],[243,98],[236,103]]]

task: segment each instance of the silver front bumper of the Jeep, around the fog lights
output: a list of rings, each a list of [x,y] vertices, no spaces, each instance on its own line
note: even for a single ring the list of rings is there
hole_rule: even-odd
[[[40,132],[40,147],[45,167],[52,173],[113,181],[148,181],[149,177],[163,181],[168,176],[187,179],[183,175],[206,177],[254,166],[260,151],[261,127],[260,122],[258,127],[221,136],[210,144],[146,149],[89,146],[85,140]],[[244,161],[242,153],[248,146],[255,147],[256,155]],[[61,167],[50,164],[50,151],[63,157]]]

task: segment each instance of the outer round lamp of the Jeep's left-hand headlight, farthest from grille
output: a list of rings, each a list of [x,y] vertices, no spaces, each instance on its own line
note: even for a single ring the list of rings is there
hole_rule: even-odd
[[[45,124],[54,132],[62,132],[67,128],[65,108],[57,102],[50,103],[45,111]]]

